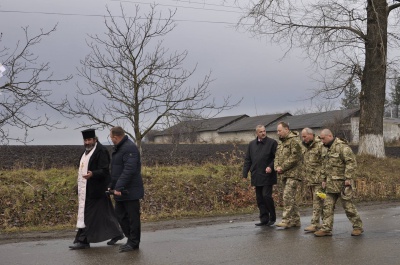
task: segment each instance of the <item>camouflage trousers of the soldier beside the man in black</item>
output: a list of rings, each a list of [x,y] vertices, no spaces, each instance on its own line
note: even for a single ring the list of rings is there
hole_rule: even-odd
[[[282,222],[300,224],[300,213],[296,202],[297,186],[300,181],[292,178],[283,180],[283,214]]]

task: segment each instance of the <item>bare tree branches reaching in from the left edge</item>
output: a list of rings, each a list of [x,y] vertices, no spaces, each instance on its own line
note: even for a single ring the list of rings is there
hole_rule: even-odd
[[[0,141],[7,144],[10,141],[27,143],[29,129],[44,127],[46,129],[61,128],[59,121],[51,121],[46,111],[35,115],[32,110],[48,108],[61,111],[66,101],[55,102],[51,99],[51,85],[70,80],[72,77],[54,78],[50,73],[50,64],[41,63],[39,56],[32,49],[39,45],[44,37],[56,30],[54,26],[49,31],[43,31],[36,36],[30,36],[28,27],[22,28],[24,39],[15,47],[0,47],[0,62],[6,71],[0,79]],[[3,35],[0,36],[0,43]],[[14,132],[10,133],[10,129]],[[16,133],[19,129],[21,134]]]

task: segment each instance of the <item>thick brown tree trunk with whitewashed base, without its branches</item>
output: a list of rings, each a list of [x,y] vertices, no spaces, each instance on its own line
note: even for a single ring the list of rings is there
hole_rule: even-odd
[[[358,153],[375,157],[385,157],[383,114],[386,88],[387,12],[386,0],[368,0]]]

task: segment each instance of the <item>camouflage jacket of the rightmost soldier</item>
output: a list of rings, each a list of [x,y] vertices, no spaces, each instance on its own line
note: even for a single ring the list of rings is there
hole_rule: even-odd
[[[326,191],[341,192],[344,181],[352,180],[357,167],[356,156],[346,140],[335,138],[330,147],[322,148],[322,177]]]

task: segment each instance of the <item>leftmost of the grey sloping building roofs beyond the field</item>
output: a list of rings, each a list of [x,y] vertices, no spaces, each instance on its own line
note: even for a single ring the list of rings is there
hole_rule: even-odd
[[[156,135],[169,135],[176,132],[206,132],[206,131],[217,131],[233,122],[248,117],[246,114],[212,118],[212,119],[201,119],[192,121],[182,121],[164,131],[158,132]]]

